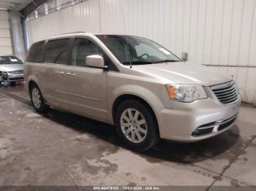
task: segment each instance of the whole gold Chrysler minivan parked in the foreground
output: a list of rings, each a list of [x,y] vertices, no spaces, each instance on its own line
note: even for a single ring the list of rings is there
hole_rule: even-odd
[[[159,138],[216,136],[233,126],[241,104],[231,76],[138,36],[75,33],[36,42],[24,79],[37,112],[53,106],[116,125],[138,150]]]

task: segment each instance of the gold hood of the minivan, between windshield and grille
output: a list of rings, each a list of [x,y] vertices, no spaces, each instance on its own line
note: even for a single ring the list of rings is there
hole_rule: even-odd
[[[179,84],[187,85],[218,85],[233,78],[221,71],[215,71],[195,63],[156,63],[132,66],[133,69],[153,75],[154,77],[169,79]]]

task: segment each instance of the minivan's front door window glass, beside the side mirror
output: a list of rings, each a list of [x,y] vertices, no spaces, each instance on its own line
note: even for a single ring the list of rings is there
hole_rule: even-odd
[[[103,55],[103,52],[89,39],[75,39],[72,51],[72,66],[86,66],[86,56]]]

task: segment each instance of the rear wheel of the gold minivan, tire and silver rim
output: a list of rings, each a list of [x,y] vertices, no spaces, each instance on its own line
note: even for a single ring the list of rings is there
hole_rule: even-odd
[[[37,85],[32,85],[29,89],[31,104],[36,110],[36,112],[43,113],[47,112],[48,105],[45,104],[44,98],[42,97],[42,93],[39,90]]]

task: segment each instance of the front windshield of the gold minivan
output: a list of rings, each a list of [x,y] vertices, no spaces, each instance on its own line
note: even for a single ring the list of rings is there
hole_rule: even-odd
[[[124,35],[97,35],[97,37],[124,65],[129,65],[130,62],[132,64],[181,62],[181,59],[172,52],[149,39]]]

